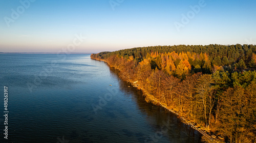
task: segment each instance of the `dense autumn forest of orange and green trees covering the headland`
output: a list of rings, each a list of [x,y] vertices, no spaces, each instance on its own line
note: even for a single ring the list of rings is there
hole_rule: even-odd
[[[210,134],[256,142],[256,45],[174,45],[92,54]],[[156,102],[157,101],[157,102]]]

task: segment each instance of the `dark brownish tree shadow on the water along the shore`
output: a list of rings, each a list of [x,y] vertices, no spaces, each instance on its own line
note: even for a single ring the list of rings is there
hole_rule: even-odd
[[[130,82],[119,78],[120,71],[110,67],[111,74],[118,77],[119,90],[128,98],[132,98],[137,108],[145,113],[148,123],[155,130],[155,134],[147,135],[144,142],[160,142],[158,139],[168,137],[170,142],[202,142],[202,135],[195,129],[182,123],[178,117],[161,106],[147,103],[141,90],[133,87]],[[128,131],[126,131],[128,132]]]

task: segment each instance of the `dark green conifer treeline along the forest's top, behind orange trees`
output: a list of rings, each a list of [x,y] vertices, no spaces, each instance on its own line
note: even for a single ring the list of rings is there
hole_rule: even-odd
[[[118,50],[114,52],[100,52],[97,58],[107,59],[111,55],[119,55],[124,58],[129,58],[133,56],[136,62],[141,62],[143,58],[146,57],[147,53],[159,52],[159,53],[206,53],[209,56],[210,62],[214,62],[217,66],[231,65],[233,63],[238,63],[243,60],[247,63],[249,68],[253,67],[252,54],[256,53],[255,45],[174,45],[174,46],[151,46],[151,47],[138,47],[132,49]]]

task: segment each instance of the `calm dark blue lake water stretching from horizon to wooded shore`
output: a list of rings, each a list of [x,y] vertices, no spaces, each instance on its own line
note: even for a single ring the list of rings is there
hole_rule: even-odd
[[[112,86],[110,86],[112,84]],[[0,142],[200,142],[90,54],[0,54]],[[8,139],[4,138],[8,87]]]

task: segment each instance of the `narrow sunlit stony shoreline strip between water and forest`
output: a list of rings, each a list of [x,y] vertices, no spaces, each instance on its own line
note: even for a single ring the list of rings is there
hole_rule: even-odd
[[[108,64],[110,67],[113,67],[113,66],[111,66],[111,65],[110,65],[107,61],[105,61],[105,60],[95,59],[95,58],[91,58],[91,59],[97,60],[97,61],[103,61],[103,62],[105,62],[106,64]],[[114,68],[115,68],[115,67],[114,67]],[[118,69],[118,68],[115,68],[115,69]],[[119,69],[118,69],[118,70],[119,70]],[[119,71],[120,71],[120,70],[119,70]],[[184,118],[183,116],[181,116],[178,111],[169,109],[168,107],[166,107],[165,105],[163,105],[163,104],[162,104],[161,102],[159,102],[158,100],[150,98],[150,94],[148,94],[144,89],[140,88],[140,85],[137,84],[137,81],[135,81],[135,82],[129,81],[129,80],[124,80],[124,81],[131,83],[131,85],[132,85],[134,88],[137,88],[138,90],[141,90],[142,93],[143,93],[143,96],[148,99],[148,101],[146,101],[146,102],[151,102],[151,103],[153,103],[153,104],[155,104],[155,105],[157,105],[157,106],[161,106],[161,107],[165,108],[166,110],[168,110],[168,111],[174,113],[174,114],[177,116],[177,118],[180,119],[184,124],[188,125],[190,128],[193,128],[193,129],[197,130],[198,132],[200,132],[203,136],[205,136],[205,137],[208,139],[208,141],[210,141],[210,142],[218,142],[218,143],[219,143],[219,142],[220,142],[220,143],[224,142],[224,141],[219,140],[218,137],[213,138],[212,136],[208,135],[207,132],[206,132],[206,130],[201,129],[200,127],[194,125],[195,123],[193,123],[193,122],[189,122],[186,118]]]

